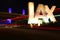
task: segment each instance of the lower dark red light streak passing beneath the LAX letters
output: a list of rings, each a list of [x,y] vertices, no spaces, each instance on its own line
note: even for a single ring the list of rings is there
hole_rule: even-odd
[[[28,27],[29,25],[26,25],[26,24],[1,24],[0,26],[8,26],[8,27],[11,27],[11,26],[12,27],[14,27],[14,26],[23,27],[23,26],[25,26],[25,27]],[[37,29],[41,29],[41,30],[60,30],[60,27],[52,27],[52,26],[51,27],[40,27],[40,28],[38,27]]]

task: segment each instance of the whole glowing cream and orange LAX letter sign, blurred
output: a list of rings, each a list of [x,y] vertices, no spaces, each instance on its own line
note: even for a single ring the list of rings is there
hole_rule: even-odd
[[[48,5],[38,4],[36,12],[34,13],[34,3],[29,2],[28,3],[28,10],[29,10],[29,18],[28,18],[28,24],[30,24],[31,28],[33,27],[33,24],[38,24],[40,26],[43,23],[43,20],[45,23],[49,23],[49,19],[51,22],[56,22],[56,19],[53,15],[53,12],[55,10],[56,6],[52,6],[51,9],[49,9]]]

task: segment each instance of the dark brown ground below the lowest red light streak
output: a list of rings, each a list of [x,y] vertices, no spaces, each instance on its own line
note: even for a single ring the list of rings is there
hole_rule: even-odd
[[[7,40],[60,40],[60,31],[0,28],[0,39]]]

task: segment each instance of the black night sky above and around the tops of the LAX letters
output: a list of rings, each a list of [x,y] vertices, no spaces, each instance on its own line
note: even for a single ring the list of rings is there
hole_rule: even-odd
[[[8,8],[11,7],[14,13],[22,13],[22,9],[25,9],[27,14],[28,2],[35,3],[35,10],[39,3],[49,7],[56,5],[57,8],[60,8],[59,0],[0,0],[0,11],[7,12]]]

